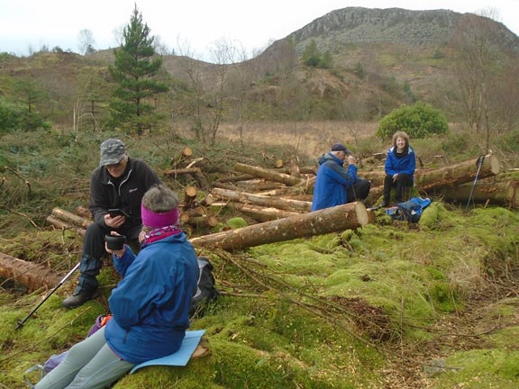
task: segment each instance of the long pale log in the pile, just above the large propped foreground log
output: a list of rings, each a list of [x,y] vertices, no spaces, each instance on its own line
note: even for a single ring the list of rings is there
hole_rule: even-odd
[[[312,208],[311,202],[304,202],[300,200],[284,199],[277,197],[270,197],[264,195],[252,195],[246,192],[232,191],[229,189],[223,189],[215,187],[211,191],[211,195],[221,200],[232,200],[239,203],[250,203],[256,205],[262,205],[267,207],[274,207],[284,210],[294,210],[308,212]]]

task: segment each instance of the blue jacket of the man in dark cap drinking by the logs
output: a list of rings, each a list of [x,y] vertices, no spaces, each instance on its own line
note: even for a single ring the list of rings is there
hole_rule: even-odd
[[[314,201],[312,211],[346,204],[346,187],[353,185],[357,179],[357,167],[343,167],[344,161],[327,153],[319,158],[319,169],[314,186]]]

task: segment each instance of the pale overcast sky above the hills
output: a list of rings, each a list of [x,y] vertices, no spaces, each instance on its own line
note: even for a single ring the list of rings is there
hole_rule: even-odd
[[[450,9],[459,13],[493,10],[498,22],[519,35],[519,0],[0,0],[0,52],[27,55],[43,45],[79,51],[79,32],[92,32],[96,50],[117,47],[116,36],[141,11],[151,35],[168,50],[209,59],[215,41],[226,40],[249,55],[286,37],[324,14],[348,6]]]

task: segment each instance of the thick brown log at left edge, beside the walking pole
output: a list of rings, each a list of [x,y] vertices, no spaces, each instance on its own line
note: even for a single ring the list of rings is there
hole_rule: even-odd
[[[25,285],[29,292],[33,292],[41,286],[52,288],[60,281],[60,277],[49,267],[14,258],[4,253],[0,253],[0,276]]]

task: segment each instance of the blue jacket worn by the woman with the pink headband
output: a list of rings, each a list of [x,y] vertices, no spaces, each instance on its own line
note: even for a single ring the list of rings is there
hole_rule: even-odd
[[[114,317],[106,324],[106,343],[132,364],[174,353],[189,328],[198,280],[186,234],[151,242],[137,257],[128,246],[123,257],[113,257],[123,279],[108,300]]]

